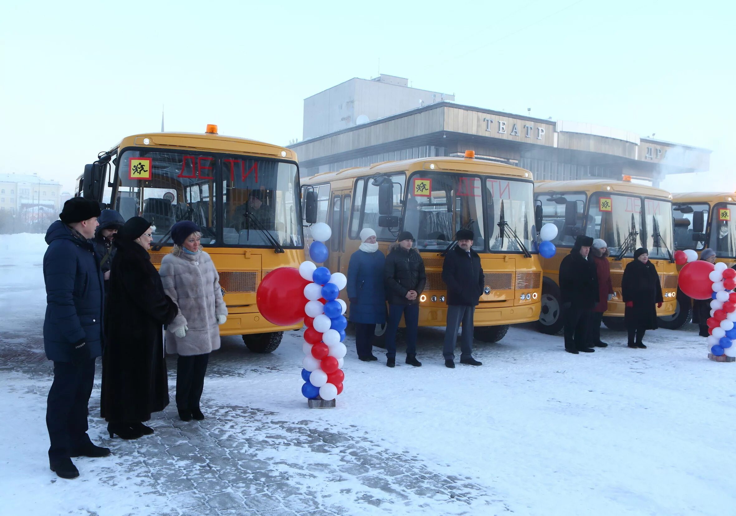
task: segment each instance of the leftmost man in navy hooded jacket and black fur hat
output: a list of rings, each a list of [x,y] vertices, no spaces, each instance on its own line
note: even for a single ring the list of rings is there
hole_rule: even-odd
[[[110,454],[107,448],[93,445],[87,435],[94,361],[102,353],[102,273],[100,258],[89,241],[99,214],[97,202],[74,197],[64,203],[61,220],[46,232],[43,347],[46,357],[54,361],[46,426],[51,440],[49,466],[62,478],[79,476],[71,457]]]

